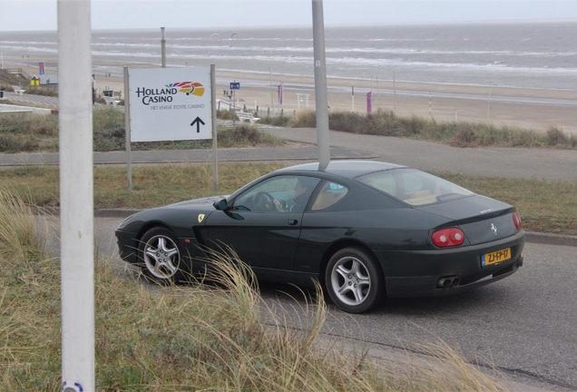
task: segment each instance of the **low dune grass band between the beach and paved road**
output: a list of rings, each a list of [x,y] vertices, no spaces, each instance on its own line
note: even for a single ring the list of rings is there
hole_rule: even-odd
[[[218,118],[231,120],[228,111]],[[377,113],[331,112],[329,129],[338,132],[404,137],[440,142],[455,147],[525,147],[577,149],[577,136],[551,127],[536,132],[485,122],[438,122],[435,119],[379,110]],[[315,112],[301,112],[292,117],[263,117],[258,124],[289,127],[316,127]],[[0,152],[57,152],[58,118],[34,113],[9,113],[0,116]],[[219,146],[279,146],[283,141],[259,130],[257,125],[238,122],[236,128],[220,128]],[[124,113],[105,106],[93,111],[93,148],[97,152],[123,151]],[[182,150],[210,148],[210,141],[133,142],[132,150]]]

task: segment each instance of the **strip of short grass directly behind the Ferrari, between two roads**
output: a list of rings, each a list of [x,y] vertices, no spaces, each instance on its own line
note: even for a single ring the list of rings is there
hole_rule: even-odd
[[[210,164],[136,166],[132,191],[122,167],[94,168],[94,208],[146,209],[215,194],[230,194],[282,163],[220,163],[219,191],[212,186]],[[525,230],[577,235],[577,182],[503,179],[435,173],[471,191],[513,204]],[[0,169],[0,182],[41,206],[58,206],[56,167],[23,166]]]

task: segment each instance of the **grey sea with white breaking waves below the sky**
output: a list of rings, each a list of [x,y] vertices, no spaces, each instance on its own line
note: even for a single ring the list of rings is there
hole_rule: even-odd
[[[325,26],[328,77],[577,90],[577,20]],[[312,26],[166,28],[168,67],[314,75]],[[56,73],[55,31],[0,32],[15,65]],[[161,65],[161,29],[94,30],[93,73]],[[218,72],[217,72],[218,73]],[[261,78],[262,79],[262,78]],[[219,80],[217,80],[219,82]],[[220,81],[221,82],[221,81]],[[259,86],[259,81],[244,81]],[[289,86],[287,86],[289,87]],[[297,87],[297,86],[295,86]]]

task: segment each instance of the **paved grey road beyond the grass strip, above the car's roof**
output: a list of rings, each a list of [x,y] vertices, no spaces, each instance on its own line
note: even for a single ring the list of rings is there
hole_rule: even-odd
[[[265,128],[264,126],[262,128]],[[312,128],[266,128],[267,132],[292,142],[317,143]],[[350,149],[372,155],[372,159],[414,167],[424,171],[462,172],[503,178],[577,181],[577,151],[525,148],[456,148],[434,142],[329,132],[331,149]]]

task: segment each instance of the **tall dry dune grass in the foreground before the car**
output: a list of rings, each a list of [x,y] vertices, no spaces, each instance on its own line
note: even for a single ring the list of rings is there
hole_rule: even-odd
[[[0,190],[3,390],[61,387],[60,263],[42,240],[54,228],[39,227],[27,203]],[[94,260],[97,390],[503,390],[446,345],[425,349],[434,361],[424,365],[384,365],[362,347],[321,343],[328,313],[320,292],[290,309],[269,306],[233,252],[208,257],[210,284],[155,289],[135,270]]]

